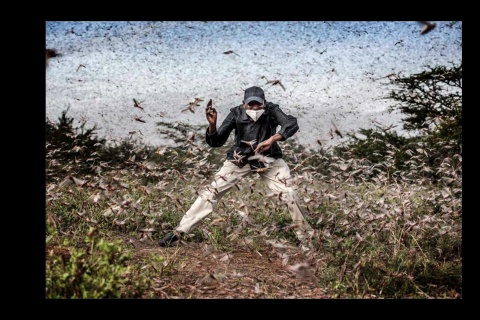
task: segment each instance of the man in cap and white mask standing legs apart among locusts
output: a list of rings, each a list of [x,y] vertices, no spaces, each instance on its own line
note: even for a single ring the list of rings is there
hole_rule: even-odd
[[[211,188],[200,194],[175,232],[168,233],[159,245],[170,246],[180,240],[182,234],[196,228],[213,211],[217,201],[252,172],[260,175],[270,191],[282,194],[298,240],[302,242],[311,236],[313,229],[304,218],[299,198],[292,188],[290,169],[282,159],[282,151],[277,143],[297,132],[297,119],[286,115],[278,105],[267,102],[263,90],[255,86],[245,90],[243,105],[230,109],[219,128],[217,111],[210,104],[207,105],[206,116],[209,123],[206,142],[209,146],[223,146],[232,131],[235,131],[235,143],[227,152],[222,168],[215,174]],[[281,128],[276,132],[278,126]]]

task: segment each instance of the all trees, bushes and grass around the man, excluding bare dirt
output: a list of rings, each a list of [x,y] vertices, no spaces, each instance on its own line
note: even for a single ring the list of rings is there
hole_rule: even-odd
[[[333,149],[308,150],[294,138],[283,143],[315,229],[306,259],[318,286],[333,297],[459,298],[461,66],[395,81],[400,89],[390,99],[418,135],[405,138],[377,126],[348,134]],[[168,281],[188,257],[131,253],[142,251],[138,243],[156,247],[172,231],[210,185],[228,145],[208,148],[202,127],[163,125],[175,146],[152,148],[133,139],[107,146],[94,128],[74,128],[65,113],[59,124],[47,122],[48,298],[168,297],[167,287],[170,295],[182,295]],[[298,254],[281,250],[297,245],[295,225],[281,195],[263,187],[247,176],[236,192],[218,199],[187,241],[205,242],[213,249],[204,255],[213,250],[215,259],[228,260],[219,253],[232,251],[274,252],[287,267]],[[280,243],[275,250],[272,241]]]

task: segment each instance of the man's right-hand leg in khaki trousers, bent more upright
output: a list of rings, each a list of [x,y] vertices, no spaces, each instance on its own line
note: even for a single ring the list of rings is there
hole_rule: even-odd
[[[313,229],[305,220],[304,210],[300,204],[297,192],[293,188],[290,168],[283,159],[272,162],[269,169],[261,172],[260,177],[273,192],[282,193],[282,200],[287,203],[290,216],[296,225],[295,234],[303,241],[313,235]]]

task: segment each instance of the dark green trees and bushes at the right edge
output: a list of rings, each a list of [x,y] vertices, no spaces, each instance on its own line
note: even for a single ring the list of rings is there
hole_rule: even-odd
[[[360,129],[358,134],[348,133],[349,139],[335,147],[335,154],[382,165],[387,153],[395,150],[395,161],[386,166],[391,173],[408,172],[411,180],[440,182],[443,175],[438,170],[443,159],[452,159],[462,151],[462,65],[427,68],[391,80],[398,89],[386,97],[395,102],[391,112],[406,115],[403,127],[416,133],[413,137],[405,138],[392,127],[377,125],[375,129]],[[418,155],[412,159],[414,153]],[[459,168],[461,163],[454,165]]]

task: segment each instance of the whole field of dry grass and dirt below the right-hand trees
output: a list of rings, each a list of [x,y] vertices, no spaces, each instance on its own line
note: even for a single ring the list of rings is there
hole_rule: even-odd
[[[68,123],[49,126],[58,133]],[[178,247],[161,248],[159,237],[211,182],[224,149],[188,128],[179,147],[163,149],[134,140],[106,147],[81,129],[47,143],[47,297],[461,298],[460,156],[443,159],[444,183],[432,184],[412,177],[429,174],[420,162],[427,149],[411,150],[412,170],[392,173],[385,168],[398,150],[388,144],[372,164],[286,143],[315,228],[309,251],[295,243],[281,197],[255,175]],[[105,242],[110,251],[95,247]],[[116,285],[96,282],[95,272],[118,272],[109,280]]]

